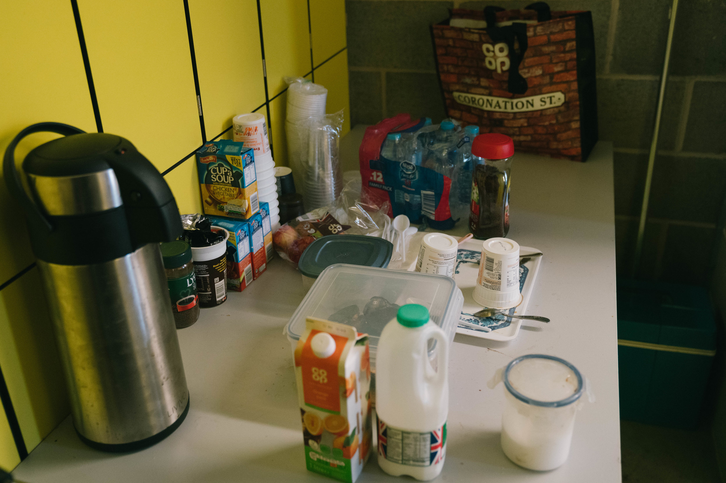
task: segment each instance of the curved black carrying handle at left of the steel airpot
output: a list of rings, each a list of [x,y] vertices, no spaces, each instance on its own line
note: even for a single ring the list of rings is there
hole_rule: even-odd
[[[37,123],[32,126],[28,126],[23,131],[20,131],[16,137],[12,139],[7,149],[5,150],[5,156],[3,158],[3,172],[5,174],[5,184],[10,195],[15,198],[25,208],[25,212],[28,214],[28,223],[33,224],[38,230],[50,233],[53,230],[52,224],[46,219],[41,211],[30,200],[28,193],[23,188],[23,181],[20,179],[20,173],[15,168],[15,148],[18,143],[30,134],[36,132],[54,132],[57,134],[63,134],[64,136],[70,136],[71,134],[84,134],[86,131],[82,131],[77,127],[70,126],[63,123]]]

